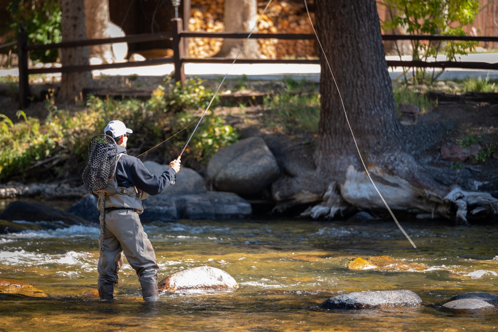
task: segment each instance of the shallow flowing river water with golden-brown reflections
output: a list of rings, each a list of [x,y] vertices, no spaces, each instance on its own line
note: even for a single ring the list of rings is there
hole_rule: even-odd
[[[232,292],[163,292],[141,300],[126,260],[115,302],[96,289],[97,227],[0,235],[0,278],[32,284],[49,298],[0,298],[0,330],[165,331],[483,331],[496,313],[452,315],[441,304],[465,292],[498,293],[498,235],[493,226],[453,227],[403,222],[413,250],[393,222],[178,221],[145,225],[161,268],[159,279],[210,265],[230,273]],[[352,258],[389,255],[426,264],[349,270]],[[416,309],[334,310],[318,304],[352,291],[409,289],[426,306]],[[87,293],[87,294],[85,294]]]

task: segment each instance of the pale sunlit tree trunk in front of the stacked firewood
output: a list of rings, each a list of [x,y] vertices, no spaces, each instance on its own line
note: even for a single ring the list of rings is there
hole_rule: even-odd
[[[225,0],[225,31],[227,32],[249,32],[256,24],[257,2],[256,0]],[[242,47],[244,39],[225,39],[220,52],[216,57],[235,59]],[[239,58],[257,59],[261,57],[257,49],[257,40],[249,39]]]

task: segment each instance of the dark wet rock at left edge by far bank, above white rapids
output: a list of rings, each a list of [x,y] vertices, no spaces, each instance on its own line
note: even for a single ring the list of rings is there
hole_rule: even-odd
[[[68,212],[53,209],[39,203],[15,201],[0,214],[7,221],[62,221],[65,224],[88,224],[88,221]]]

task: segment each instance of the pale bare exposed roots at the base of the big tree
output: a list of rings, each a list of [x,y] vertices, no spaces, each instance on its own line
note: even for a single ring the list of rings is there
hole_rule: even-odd
[[[434,191],[428,187],[414,186],[404,178],[387,174],[374,165],[369,167],[369,172],[392,210],[414,213],[428,212],[453,219],[450,212],[454,205],[456,207],[456,220],[466,224],[468,224],[467,211],[469,208],[472,208],[471,214],[473,215],[483,211],[498,213],[498,200],[489,193],[469,192],[458,186],[453,186],[443,196],[439,190]],[[323,202],[309,208],[302,215],[314,219],[331,219],[337,214],[342,215],[350,206],[359,209],[384,208],[384,204],[373,188],[367,173],[357,170],[353,165],[348,167],[344,183],[337,185],[333,181],[323,196]]]

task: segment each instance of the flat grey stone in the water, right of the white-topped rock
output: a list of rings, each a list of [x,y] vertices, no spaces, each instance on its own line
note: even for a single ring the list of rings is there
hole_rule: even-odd
[[[383,309],[396,307],[418,307],[422,299],[412,291],[364,291],[331,297],[322,304],[324,309]]]

